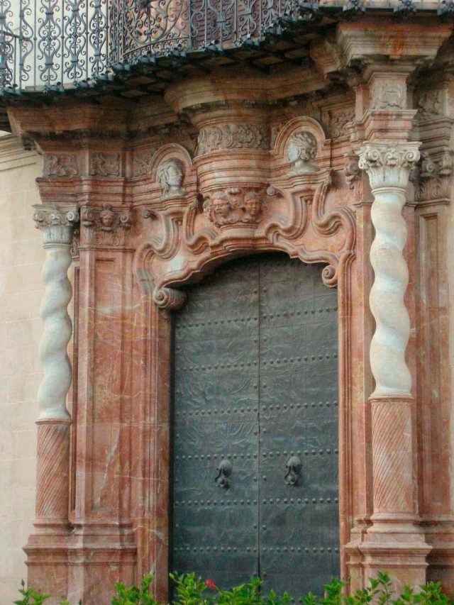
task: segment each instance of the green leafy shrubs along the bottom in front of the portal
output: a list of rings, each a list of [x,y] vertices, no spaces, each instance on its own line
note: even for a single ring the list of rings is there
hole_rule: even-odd
[[[258,578],[221,590],[211,579],[204,581],[194,573],[170,574],[170,577],[175,582],[176,600],[173,605],[287,605],[292,601],[287,592],[282,595],[275,592],[263,594],[260,591],[261,580]],[[153,576],[146,575],[138,587],[128,587],[117,582],[111,605],[160,605],[150,592],[152,581]],[[302,605],[454,605],[454,601],[443,594],[438,582],[423,584],[417,592],[412,587],[404,587],[402,594],[396,596],[386,573],[379,573],[376,579],[370,578],[369,586],[353,594],[345,594],[344,588],[345,582],[332,579],[324,587],[323,596],[309,592],[299,602]],[[15,605],[42,605],[49,597],[33,588],[26,589],[23,582],[19,592],[23,599],[14,601]],[[61,601],[60,605],[70,604]],[[79,605],[82,605],[80,601]]]

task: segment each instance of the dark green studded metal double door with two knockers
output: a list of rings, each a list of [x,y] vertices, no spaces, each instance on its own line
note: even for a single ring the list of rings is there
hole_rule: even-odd
[[[337,292],[321,268],[234,260],[175,316],[172,570],[293,596],[339,574]]]

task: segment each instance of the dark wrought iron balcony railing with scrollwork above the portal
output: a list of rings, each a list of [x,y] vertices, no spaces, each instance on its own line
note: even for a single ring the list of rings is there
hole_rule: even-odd
[[[162,55],[220,50],[317,13],[454,13],[453,0],[0,0],[0,96],[108,82]]]

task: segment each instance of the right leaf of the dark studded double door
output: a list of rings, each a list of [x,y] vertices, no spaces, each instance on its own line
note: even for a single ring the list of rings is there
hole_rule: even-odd
[[[265,591],[300,595],[338,574],[336,292],[319,287],[320,267],[270,265],[260,265],[260,572]],[[287,484],[292,456],[301,472]]]

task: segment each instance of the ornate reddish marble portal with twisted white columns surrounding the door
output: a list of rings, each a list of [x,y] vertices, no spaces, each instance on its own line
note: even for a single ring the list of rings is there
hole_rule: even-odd
[[[50,255],[30,584],[104,604],[118,578],[151,569],[166,598],[171,311],[224,260],[280,250],[323,263],[338,289],[343,575],[351,589],[377,570],[454,589],[448,343],[431,327],[447,325],[433,250],[451,84],[433,103],[422,90],[448,35],[430,22],[339,23],[333,40],[311,39],[315,67],[201,69],[109,116],[77,99],[41,108],[38,123],[36,109],[11,109],[45,153],[35,218]]]

